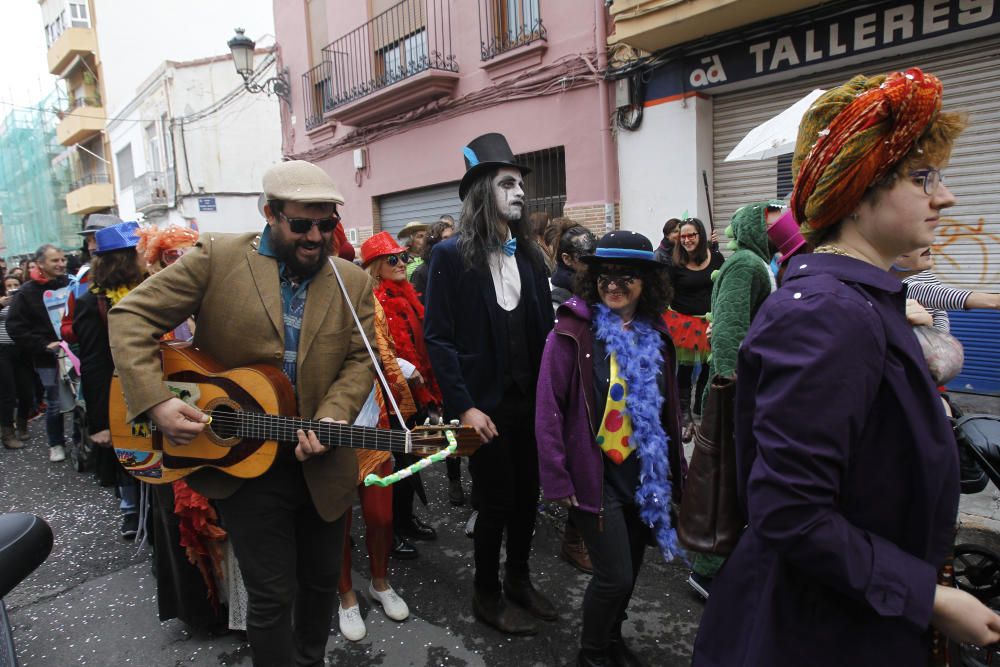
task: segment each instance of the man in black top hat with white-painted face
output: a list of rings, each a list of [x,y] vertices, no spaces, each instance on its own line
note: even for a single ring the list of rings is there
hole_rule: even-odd
[[[533,634],[531,616],[556,618],[528,569],[538,500],[535,382],[552,328],[551,294],[524,219],[528,169],[501,134],[478,137],[463,153],[458,233],[431,253],[425,340],[445,416],[473,426],[485,443],[469,462],[479,510],[473,611],[502,632]]]

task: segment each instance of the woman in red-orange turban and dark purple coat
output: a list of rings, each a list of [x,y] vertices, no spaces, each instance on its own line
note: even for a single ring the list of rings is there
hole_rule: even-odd
[[[1000,640],[1000,616],[939,583],[958,452],[888,271],[955,203],[941,169],[964,119],[941,92],[916,68],[858,76],[799,128],[791,203],[816,249],[792,260],[740,349],[747,526],[713,583],[696,667],[919,665],[941,634]]]

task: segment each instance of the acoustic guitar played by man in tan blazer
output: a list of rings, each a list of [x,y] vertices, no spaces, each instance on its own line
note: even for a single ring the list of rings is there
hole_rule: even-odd
[[[143,416],[129,422],[118,376],[112,379],[108,417],[111,442],[125,469],[144,482],[167,484],[202,468],[251,478],[274,462],[279,447],[294,447],[296,431],[314,431],[331,447],[377,449],[429,456],[458,442],[455,456],[469,456],[481,441],[469,426],[420,426],[411,431],[349,426],[294,417],[295,393],[273,366],[224,369],[186,343],[162,343],[163,380],[179,398],[211,417],[187,445],[168,440]]]

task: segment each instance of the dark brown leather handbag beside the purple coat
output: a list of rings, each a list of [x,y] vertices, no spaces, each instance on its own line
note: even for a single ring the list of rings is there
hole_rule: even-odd
[[[735,398],[735,377],[712,378],[677,522],[681,544],[692,551],[728,555],[746,526],[736,493]]]

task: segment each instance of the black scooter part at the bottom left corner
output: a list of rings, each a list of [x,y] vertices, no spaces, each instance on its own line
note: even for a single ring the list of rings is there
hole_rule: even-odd
[[[52,551],[52,529],[33,514],[0,514],[0,665],[17,667],[14,635],[3,598]]]

